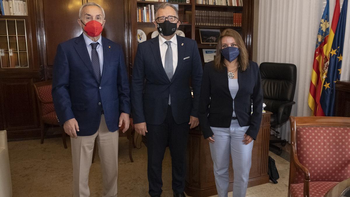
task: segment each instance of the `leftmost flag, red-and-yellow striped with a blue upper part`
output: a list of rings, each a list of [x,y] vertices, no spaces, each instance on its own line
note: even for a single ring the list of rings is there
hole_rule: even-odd
[[[311,108],[314,116],[316,116],[319,101],[316,101],[316,90],[318,86],[322,85],[322,67],[324,61],[323,46],[328,41],[329,35],[329,0],[327,0],[326,7],[324,8],[321,18],[320,27],[318,28],[316,49],[314,54],[313,70],[311,74],[310,91],[308,97],[308,104]]]

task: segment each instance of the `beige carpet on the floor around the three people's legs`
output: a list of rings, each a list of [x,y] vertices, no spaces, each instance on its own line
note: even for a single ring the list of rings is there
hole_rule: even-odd
[[[140,140],[140,138],[139,138]],[[63,148],[62,138],[9,142],[10,167],[14,197],[66,197],[72,196],[72,164],[70,140]],[[138,142],[139,145],[139,142]],[[278,184],[267,183],[248,188],[248,197],[287,196],[289,162],[270,152],[276,161],[280,179]],[[147,149],[133,149],[134,163],[128,156],[128,140],[119,139],[119,197],[148,196]],[[167,150],[163,161],[163,197],[172,197],[171,160]],[[91,165],[89,187],[91,197],[102,196],[102,177],[96,154]],[[232,193],[229,193],[232,196]]]

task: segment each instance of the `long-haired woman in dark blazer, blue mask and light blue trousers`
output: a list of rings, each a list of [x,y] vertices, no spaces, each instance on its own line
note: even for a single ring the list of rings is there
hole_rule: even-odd
[[[203,136],[210,142],[219,197],[228,195],[230,154],[234,171],[233,196],[245,196],[253,140],[258,135],[261,115],[258,64],[248,60],[239,33],[225,29],[218,38],[215,60],[204,66],[198,108]]]

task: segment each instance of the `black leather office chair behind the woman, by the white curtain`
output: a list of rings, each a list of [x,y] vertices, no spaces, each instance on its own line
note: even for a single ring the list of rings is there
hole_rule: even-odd
[[[289,63],[263,62],[260,64],[261,86],[264,95],[265,110],[271,111],[271,129],[288,121],[296,86],[296,66]],[[286,145],[286,140],[270,140],[270,147],[278,149],[277,155],[282,153],[282,148],[273,143]]]

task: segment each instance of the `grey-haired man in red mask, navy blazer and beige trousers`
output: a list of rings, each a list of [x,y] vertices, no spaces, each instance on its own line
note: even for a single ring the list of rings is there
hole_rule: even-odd
[[[117,196],[119,127],[129,127],[130,89],[120,45],[103,38],[104,10],[89,2],[79,10],[83,33],[58,45],[52,97],[57,119],[71,137],[73,195],[90,196],[94,141],[102,167],[103,196]]]

